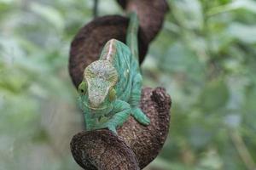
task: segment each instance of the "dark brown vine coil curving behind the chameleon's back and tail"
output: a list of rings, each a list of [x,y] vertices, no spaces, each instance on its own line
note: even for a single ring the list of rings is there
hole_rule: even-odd
[[[115,38],[125,42],[129,20],[119,15],[104,16],[91,21],[74,37],[69,58],[69,73],[78,88],[82,82],[84,68],[99,58],[102,48],[108,40]],[[139,59],[143,62],[148,51],[143,31],[139,31]]]

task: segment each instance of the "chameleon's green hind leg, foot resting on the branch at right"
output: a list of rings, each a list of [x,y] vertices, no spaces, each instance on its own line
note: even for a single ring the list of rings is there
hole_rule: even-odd
[[[134,116],[134,118],[143,125],[148,125],[150,123],[148,116],[146,116],[143,111],[138,107],[142,94],[142,82],[143,77],[141,76],[141,74],[137,73],[132,83],[131,98],[129,100],[129,103],[131,105],[131,115]]]

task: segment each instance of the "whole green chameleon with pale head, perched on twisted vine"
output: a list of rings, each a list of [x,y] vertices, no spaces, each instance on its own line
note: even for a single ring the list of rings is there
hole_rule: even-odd
[[[79,84],[79,107],[84,111],[86,130],[108,127],[113,133],[129,116],[143,125],[150,120],[138,107],[142,76],[138,65],[137,14],[130,14],[126,43],[109,40],[100,58],[84,69]]]

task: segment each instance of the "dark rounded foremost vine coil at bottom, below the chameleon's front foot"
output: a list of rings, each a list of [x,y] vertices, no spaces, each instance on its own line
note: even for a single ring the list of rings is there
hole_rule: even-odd
[[[71,143],[74,159],[88,170],[137,170],[137,158],[124,140],[108,130],[78,133]]]

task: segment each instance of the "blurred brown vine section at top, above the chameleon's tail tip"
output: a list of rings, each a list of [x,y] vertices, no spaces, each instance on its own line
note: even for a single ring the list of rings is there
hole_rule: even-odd
[[[147,42],[151,42],[156,37],[169,11],[166,0],[117,0],[117,2],[126,11],[137,12]]]

